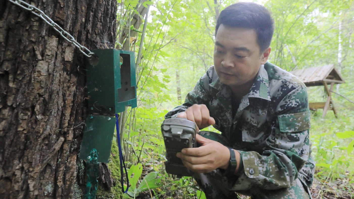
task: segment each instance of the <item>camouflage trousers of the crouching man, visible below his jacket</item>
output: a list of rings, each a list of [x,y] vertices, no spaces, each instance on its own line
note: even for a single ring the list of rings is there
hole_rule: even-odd
[[[207,139],[215,140],[228,146],[227,139],[221,134],[210,131],[200,131],[199,134]],[[204,191],[207,199],[234,199],[239,198],[232,187],[237,180],[237,176],[223,176],[221,169],[216,169],[205,174],[194,174],[193,176],[199,187]],[[251,199],[309,199],[308,188],[299,178],[297,178],[290,188],[274,190],[259,189],[257,187],[250,190],[238,192],[239,194],[251,196]]]

